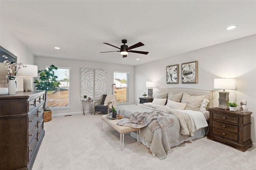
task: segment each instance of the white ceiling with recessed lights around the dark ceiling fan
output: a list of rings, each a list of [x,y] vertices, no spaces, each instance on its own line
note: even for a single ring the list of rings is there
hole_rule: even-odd
[[[255,0],[1,0],[0,17],[36,56],[124,65],[256,34]],[[231,25],[238,27],[225,30]],[[118,50],[103,42],[120,47],[122,39],[144,43],[133,50],[148,55],[100,53]]]

